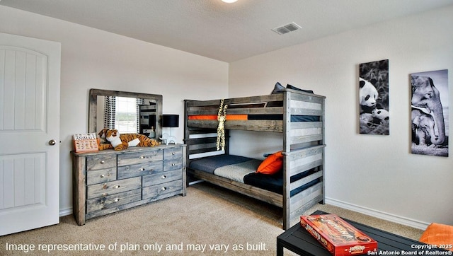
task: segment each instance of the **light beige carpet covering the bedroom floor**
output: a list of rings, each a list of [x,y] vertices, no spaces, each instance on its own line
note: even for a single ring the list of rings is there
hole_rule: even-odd
[[[327,204],[304,214],[316,210],[414,240],[423,232]],[[64,216],[54,226],[1,236],[0,255],[275,255],[277,235],[283,233],[281,212],[202,182],[188,187],[186,197],[98,217],[84,226]],[[292,253],[285,250],[285,255]]]

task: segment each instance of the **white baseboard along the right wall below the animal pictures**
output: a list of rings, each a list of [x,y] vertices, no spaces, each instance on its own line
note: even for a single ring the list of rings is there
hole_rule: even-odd
[[[389,213],[386,213],[386,212],[383,212],[383,211],[377,211],[375,209],[369,209],[367,207],[358,206],[358,205],[355,205],[355,204],[350,204],[348,202],[342,202],[342,201],[339,201],[337,199],[326,198],[325,202],[326,202],[326,204],[331,204],[333,206],[338,206],[338,207],[341,207],[343,209],[348,209],[348,210],[351,210],[351,211],[357,211],[360,214],[366,214],[366,215],[369,215],[369,216],[376,217],[378,219],[384,219],[386,221],[391,221],[391,222],[399,223],[399,224],[402,224],[402,225],[411,226],[413,228],[418,228],[418,229],[421,229],[421,230],[425,230],[426,227],[430,224],[430,223],[425,223],[423,221],[417,221],[417,220],[414,220],[414,219],[408,219],[406,217],[397,216],[397,215],[394,215],[394,214],[389,214]]]

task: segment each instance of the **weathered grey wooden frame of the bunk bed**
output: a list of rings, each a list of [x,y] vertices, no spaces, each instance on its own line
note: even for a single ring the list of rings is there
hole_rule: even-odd
[[[325,97],[286,89],[283,93],[244,98],[224,99],[228,105],[226,115],[282,115],[282,120],[226,120],[225,150],[217,151],[217,120],[192,120],[190,116],[217,115],[221,100],[185,100],[185,133],[187,145],[187,173],[229,190],[279,206],[283,211],[282,228],[287,230],[290,221],[311,206],[324,202],[324,104]],[[279,105],[277,107],[270,107]],[[318,116],[319,122],[291,122],[292,115]],[[229,154],[229,130],[282,133],[283,192],[278,194],[241,182],[229,180],[204,171],[190,168],[190,162],[200,156]],[[272,153],[272,152],[270,152]],[[291,182],[293,175],[316,168],[316,172]],[[316,185],[290,196],[294,188],[313,180]]]

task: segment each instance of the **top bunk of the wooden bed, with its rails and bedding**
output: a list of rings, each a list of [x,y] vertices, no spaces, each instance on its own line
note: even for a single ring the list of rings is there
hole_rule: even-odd
[[[283,132],[282,121],[323,122],[324,96],[294,86],[288,85],[289,87],[284,88],[280,83],[277,84],[279,89],[274,88],[270,95],[222,100],[186,100],[186,126],[217,128],[219,107],[223,109],[226,118],[225,129]],[[287,100],[285,107],[284,100]]]

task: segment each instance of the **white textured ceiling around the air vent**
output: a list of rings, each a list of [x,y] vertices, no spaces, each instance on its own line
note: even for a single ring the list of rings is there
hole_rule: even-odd
[[[223,62],[234,62],[453,0],[0,0],[0,5],[79,23]],[[273,28],[302,28],[279,35]]]

